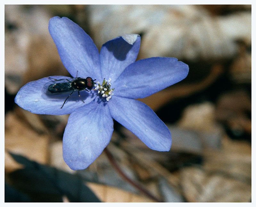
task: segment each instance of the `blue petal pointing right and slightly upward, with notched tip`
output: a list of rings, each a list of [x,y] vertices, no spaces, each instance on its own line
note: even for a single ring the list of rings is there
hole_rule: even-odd
[[[144,98],[173,85],[188,74],[188,65],[171,57],[152,57],[130,64],[113,82],[115,96]]]

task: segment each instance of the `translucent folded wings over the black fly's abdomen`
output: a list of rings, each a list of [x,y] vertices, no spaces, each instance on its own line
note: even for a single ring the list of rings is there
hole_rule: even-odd
[[[62,93],[69,93],[72,91],[78,91],[71,86],[71,82],[77,78],[65,78],[59,80],[53,80],[46,83],[43,87],[43,92],[46,95],[57,95]]]

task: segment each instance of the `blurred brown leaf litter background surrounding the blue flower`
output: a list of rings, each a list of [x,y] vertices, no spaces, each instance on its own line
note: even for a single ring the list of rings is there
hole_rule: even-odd
[[[73,20],[98,49],[137,33],[137,59],[189,65],[187,78],[140,99],[169,127],[169,152],[114,122],[112,161],[145,190],[104,152],[71,170],[62,158],[69,115],[14,103],[29,81],[70,76],[48,32],[53,16]],[[5,5],[5,202],[251,202],[251,27],[251,5]]]

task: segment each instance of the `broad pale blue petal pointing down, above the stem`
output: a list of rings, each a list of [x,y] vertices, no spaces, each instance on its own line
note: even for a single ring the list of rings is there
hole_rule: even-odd
[[[87,168],[110,142],[113,119],[109,108],[91,102],[68,119],[63,136],[63,158],[73,170]]]

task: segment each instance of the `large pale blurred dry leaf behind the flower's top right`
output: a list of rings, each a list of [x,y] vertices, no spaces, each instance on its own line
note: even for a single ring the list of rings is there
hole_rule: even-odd
[[[89,5],[88,11],[98,48],[122,34],[142,34],[139,59],[227,58],[237,53],[235,40],[251,44],[250,8],[227,16],[200,5]]]

